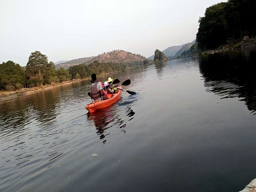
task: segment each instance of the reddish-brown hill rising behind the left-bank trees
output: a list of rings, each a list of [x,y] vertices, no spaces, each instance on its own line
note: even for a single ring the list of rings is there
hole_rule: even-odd
[[[58,64],[55,66],[56,69],[63,67],[64,69],[68,69],[70,66],[78,65],[78,64],[90,64],[93,61],[99,61],[102,63],[134,63],[137,61],[144,61],[147,58],[143,57],[139,54],[134,54],[131,52],[123,51],[123,50],[114,50],[112,52],[104,52],[96,57],[86,57],[86,58],[78,58],[73,59],[71,61],[67,61],[62,64]]]

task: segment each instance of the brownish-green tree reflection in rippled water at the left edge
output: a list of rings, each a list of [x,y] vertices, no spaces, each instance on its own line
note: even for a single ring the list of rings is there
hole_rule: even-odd
[[[34,120],[41,123],[55,119],[58,102],[59,91],[49,90],[1,104],[0,135],[18,134]]]

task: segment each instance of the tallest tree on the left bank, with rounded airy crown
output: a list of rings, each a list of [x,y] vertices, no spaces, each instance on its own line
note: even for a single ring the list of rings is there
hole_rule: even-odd
[[[37,77],[39,84],[42,85],[43,77],[47,75],[48,59],[40,51],[32,52],[26,65],[26,75],[29,79]]]

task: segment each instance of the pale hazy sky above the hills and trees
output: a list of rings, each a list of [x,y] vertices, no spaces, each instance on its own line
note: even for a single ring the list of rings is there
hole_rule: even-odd
[[[115,49],[149,57],[192,42],[199,17],[227,0],[0,0],[0,63],[25,66],[31,52],[48,61]]]

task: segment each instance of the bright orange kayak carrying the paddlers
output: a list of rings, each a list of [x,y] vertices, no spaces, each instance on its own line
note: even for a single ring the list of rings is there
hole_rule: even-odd
[[[121,89],[122,87],[118,86],[117,88]],[[120,97],[121,97],[121,90],[118,90],[117,93],[108,94],[108,99],[90,103],[86,105],[85,108],[89,111],[89,113],[93,113],[94,111],[97,111],[99,109],[112,105],[113,103],[117,102],[120,99]]]

